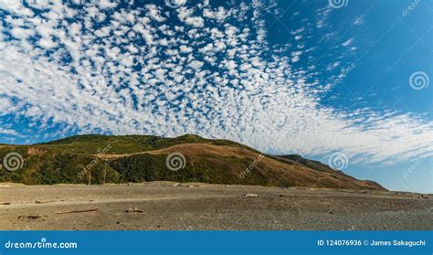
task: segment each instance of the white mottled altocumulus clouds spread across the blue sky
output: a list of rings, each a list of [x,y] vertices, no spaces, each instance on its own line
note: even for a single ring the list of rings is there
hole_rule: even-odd
[[[273,1],[168,2],[0,1],[0,133],[197,133],[369,163],[431,155],[422,115],[321,103],[342,67],[356,69],[346,58],[353,40],[329,53],[328,70],[340,74],[315,64],[323,49],[310,42],[332,40],[315,37],[333,11],[327,3],[275,44]]]

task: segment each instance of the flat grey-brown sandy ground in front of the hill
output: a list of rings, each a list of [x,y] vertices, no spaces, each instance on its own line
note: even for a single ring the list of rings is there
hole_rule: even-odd
[[[83,210],[93,211],[74,212]],[[0,184],[0,229],[431,230],[432,211],[432,195],[402,192],[168,182]]]

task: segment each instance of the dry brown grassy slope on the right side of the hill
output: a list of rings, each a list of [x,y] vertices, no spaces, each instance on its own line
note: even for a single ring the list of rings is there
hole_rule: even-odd
[[[104,158],[117,160],[141,154],[184,154],[187,165],[194,168],[195,164],[206,162],[219,166],[220,171],[227,171],[229,184],[255,184],[254,181],[262,179],[263,186],[308,186],[333,187],[346,189],[384,189],[371,181],[362,181],[341,171],[335,171],[329,166],[327,171],[313,169],[307,165],[297,164],[290,160],[279,160],[274,156],[258,154],[245,147],[215,145],[208,143],[183,143],[161,150],[147,151],[136,154],[106,154]],[[239,162],[249,162],[245,168],[238,165],[227,165],[227,162],[236,159]],[[180,170],[183,171],[183,170]],[[208,171],[212,171],[209,169]],[[218,171],[218,170],[216,170]],[[212,181],[210,181],[212,182]]]

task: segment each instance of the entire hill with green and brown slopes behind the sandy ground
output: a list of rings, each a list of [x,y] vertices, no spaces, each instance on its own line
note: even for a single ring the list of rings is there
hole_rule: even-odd
[[[322,163],[300,157],[260,154],[246,145],[197,135],[80,135],[50,143],[0,146],[0,158],[16,152],[21,169],[0,170],[0,182],[27,185],[92,184],[169,180],[259,186],[310,186],[383,189],[354,179]],[[170,154],[183,154],[185,167],[171,171]]]

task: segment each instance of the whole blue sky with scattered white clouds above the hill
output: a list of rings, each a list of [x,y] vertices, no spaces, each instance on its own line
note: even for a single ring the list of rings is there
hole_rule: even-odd
[[[197,133],[431,193],[432,9],[0,0],[0,143]]]

